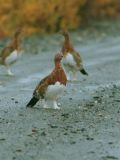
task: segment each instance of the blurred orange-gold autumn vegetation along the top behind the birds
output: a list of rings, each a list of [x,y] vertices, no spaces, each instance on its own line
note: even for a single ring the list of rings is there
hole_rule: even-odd
[[[74,30],[105,18],[120,18],[120,0],[0,0],[0,37],[18,26],[27,36]]]

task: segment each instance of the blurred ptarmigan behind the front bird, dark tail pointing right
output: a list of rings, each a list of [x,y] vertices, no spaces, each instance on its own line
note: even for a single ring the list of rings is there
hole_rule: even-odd
[[[80,71],[84,75],[88,75],[85,71],[80,54],[74,49],[70,42],[69,33],[62,32],[65,40],[61,52],[63,54],[63,65],[67,74],[67,79],[70,80],[70,72],[72,73],[73,80],[76,80],[76,74]]]

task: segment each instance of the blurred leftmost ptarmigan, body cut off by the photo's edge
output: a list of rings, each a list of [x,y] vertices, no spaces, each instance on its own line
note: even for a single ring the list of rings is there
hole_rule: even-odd
[[[21,32],[22,32],[22,28],[18,28],[14,33],[14,36],[10,44],[6,46],[1,51],[1,54],[0,54],[0,64],[4,65],[7,68],[8,75],[13,75],[13,73],[10,70],[10,66],[17,61],[21,53],[21,48],[20,48]]]

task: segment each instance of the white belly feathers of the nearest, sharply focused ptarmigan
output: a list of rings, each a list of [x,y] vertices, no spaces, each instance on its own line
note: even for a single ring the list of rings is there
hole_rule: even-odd
[[[56,82],[54,85],[48,87],[45,99],[55,100],[65,91],[65,89],[66,87],[64,85]]]

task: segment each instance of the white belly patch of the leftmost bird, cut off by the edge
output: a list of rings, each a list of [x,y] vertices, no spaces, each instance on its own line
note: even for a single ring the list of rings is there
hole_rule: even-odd
[[[14,50],[14,51],[5,59],[5,63],[6,63],[6,64],[12,64],[12,63],[14,63],[17,59],[18,59],[18,54],[17,54],[17,51]]]

